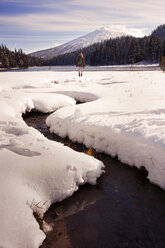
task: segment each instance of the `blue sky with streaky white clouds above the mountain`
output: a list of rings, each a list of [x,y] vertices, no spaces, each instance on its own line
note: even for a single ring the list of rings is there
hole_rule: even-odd
[[[164,13],[164,0],[0,0],[0,44],[30,53],[111,25],[142,37]]]

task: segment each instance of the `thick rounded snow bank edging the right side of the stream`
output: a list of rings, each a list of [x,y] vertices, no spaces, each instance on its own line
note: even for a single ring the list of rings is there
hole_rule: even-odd
[[[62,114],[65,111],[67,117],[64,119]],[[68,112],[66,108],[47,118],[46,123],[51,132],[63,138],[68,136],[87,147],[94,147],[98,152],[118,156],[120,161],[131,166],[145,166],[149,180],[165,188],[165,136],[161,128],[154,127],[164,122],[165,114],[160,120],[153,112],[148,113],[145,119],[141,113],[137,113],[135,119],[130,113],[111,113],[109,117],[109,114],[83,115],[78,109],[73,115],[68,115]],[[154,123],[151,118],[154,118]]]

